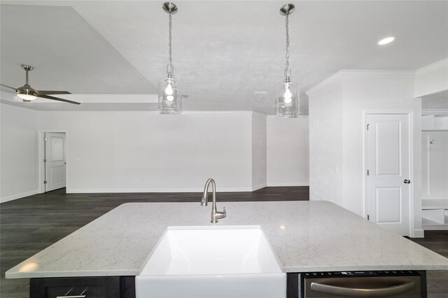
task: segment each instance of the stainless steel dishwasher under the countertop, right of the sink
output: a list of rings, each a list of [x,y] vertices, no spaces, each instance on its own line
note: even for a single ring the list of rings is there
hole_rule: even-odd
[[[425,271],[334,271],[299,274],[298,297],[426,297]]]

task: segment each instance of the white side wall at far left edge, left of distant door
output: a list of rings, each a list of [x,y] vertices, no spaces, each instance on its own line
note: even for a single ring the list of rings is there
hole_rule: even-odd
[[[0,201],[37,193],[38,112],[0,104]]]

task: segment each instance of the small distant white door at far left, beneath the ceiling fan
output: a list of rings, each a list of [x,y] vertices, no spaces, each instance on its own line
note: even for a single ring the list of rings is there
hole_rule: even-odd
[[[65,133],[45,132],[45,192],[65,187]]]

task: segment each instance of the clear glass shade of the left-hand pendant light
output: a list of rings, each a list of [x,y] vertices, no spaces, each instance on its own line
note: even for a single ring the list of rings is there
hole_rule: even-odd
[[[182,112],[179,85],[172,77],[159,80],[159,111],[162,114],[180,114]]]

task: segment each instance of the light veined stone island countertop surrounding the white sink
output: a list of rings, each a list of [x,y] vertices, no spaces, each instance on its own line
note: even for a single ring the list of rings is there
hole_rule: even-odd
[[[284,272],[448,270],[448,259],[328,201],[219,202],[216,225],[260,225]],[[200,203],[127,203],[6,278],[136,276],[168,226],[213,225]]]

